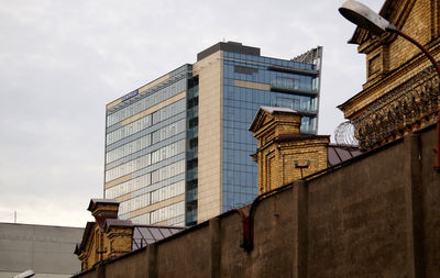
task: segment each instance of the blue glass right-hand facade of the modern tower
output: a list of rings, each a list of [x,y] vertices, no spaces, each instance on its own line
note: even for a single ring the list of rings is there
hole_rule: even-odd
[[[302,112],[301,132],[317,133],[319,76],[316,67],[223,53],[223,212],[252,202],[257,194],[257,166],[250,157],[255,153],[256,140],[248,129],[260,107],[286,107]],[[238,80],[263,84],[270,90],[246,88]]]

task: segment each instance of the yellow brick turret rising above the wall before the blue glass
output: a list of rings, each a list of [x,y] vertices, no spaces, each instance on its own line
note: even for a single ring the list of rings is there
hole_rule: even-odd
[[[301,114],[287,108],[262,107],[249,129],[258,141],[252,155],[258,164],[258,193],[327,168],[330,135],[300,134]]]

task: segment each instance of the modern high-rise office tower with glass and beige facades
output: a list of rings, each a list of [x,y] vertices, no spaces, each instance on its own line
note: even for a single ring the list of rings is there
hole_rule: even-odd
[[[256,140],[248,131],[261,105],[302,113],[318,127],[322,48],[294,59],[218,43],[185,65],[107,105],[106,198],[120,218],[191,225],[251,202],[257,192]]]

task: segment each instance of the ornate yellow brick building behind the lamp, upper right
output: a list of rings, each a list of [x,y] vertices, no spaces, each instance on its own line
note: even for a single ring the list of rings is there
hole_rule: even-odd
[[[440,1],[387,0],[380,14],[440,57]],[[363,90],[339,105],[364,151],[435,123],[439,78],[428,58],[396,34],[381,37],[358,27],[349,43],[366,54]]]

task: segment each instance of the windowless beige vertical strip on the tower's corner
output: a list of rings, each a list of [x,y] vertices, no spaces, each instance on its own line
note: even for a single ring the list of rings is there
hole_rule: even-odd
[[[198,223],[221,213],[223,162],[223,52],[193,66],[199,76]]]

